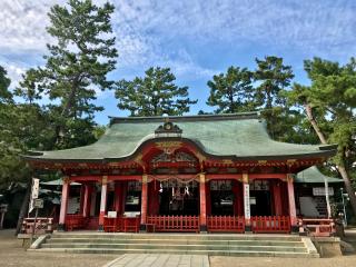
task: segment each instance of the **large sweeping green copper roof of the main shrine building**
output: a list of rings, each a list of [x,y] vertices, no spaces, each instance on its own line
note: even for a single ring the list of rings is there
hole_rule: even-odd
[[[44,151],[24,158],[56,161],[126,158],[135,154],[142,142],[155,140],[155,130],[164,123],[165,119],[167,118],[111,118],[110,127],[100,140],[93,145]],[[195,142],[202,152],[210,156],[268,159],[317,155],[328,157],[335,154],[335,146],[294,145],[274,141],[269,138],[265,123],[258,118],[257,112],[169,117],[169,121],[182,130],[181,138]],[[177,138],[179,139],[179,137]]]

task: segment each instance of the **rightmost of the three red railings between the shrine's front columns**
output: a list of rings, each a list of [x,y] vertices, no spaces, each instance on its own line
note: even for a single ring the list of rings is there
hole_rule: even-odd
[[[289,216],[254,216],[251,217],[254,233],[289,233]]]

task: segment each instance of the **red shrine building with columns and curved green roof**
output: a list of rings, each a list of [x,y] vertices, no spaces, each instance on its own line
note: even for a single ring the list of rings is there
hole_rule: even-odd
[[[296,174],[336,154],[273,140],[257,112],[110,119],[92,145],[24,156],[63,175],[61,230],[290,233]]]

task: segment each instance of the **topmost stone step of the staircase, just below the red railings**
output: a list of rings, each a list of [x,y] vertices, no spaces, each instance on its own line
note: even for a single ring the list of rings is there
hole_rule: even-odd
[[[67,234],[56,233],[52,238],[108,238],[111,239],[199,239],[199,240],[279,240],[279,241],[300,241],[299,236],[287,235],[241,235],[241,234],[122,234],[122,233],[93,233],[93,234]]]

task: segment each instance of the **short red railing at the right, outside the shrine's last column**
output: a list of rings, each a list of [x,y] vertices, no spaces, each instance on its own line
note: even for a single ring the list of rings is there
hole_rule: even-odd
[[[298,219],[298,226],[301,235],[329,237],[336,233],[333,219]]]

